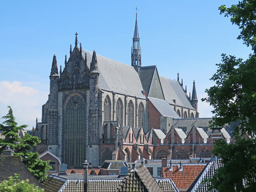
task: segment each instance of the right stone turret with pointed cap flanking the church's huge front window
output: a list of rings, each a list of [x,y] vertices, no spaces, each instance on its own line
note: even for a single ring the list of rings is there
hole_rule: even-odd
[[[93,51],[90,65],[90,106],[89,106],[89,129],[88,129],[88,160],[93,166],[99,165],[99,122],[98,122],[98,92],[99,72],[96,52]]]

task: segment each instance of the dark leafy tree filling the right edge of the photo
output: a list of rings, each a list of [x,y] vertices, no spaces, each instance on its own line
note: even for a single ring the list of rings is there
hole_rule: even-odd
[[[218,191],[255,191],[256,189],[256,1],[241,1],[227,8],[220,6],[220,13],[231,17],[241,33],[238,39],[251,46],[252,53],[243,60],[222,54],[222,62],[210,80],[216,85],[206,89],[202,99],[214,106],[211,126],[240,120],[235,127],[236,143],[223,140],[215,143],[212,153],[222,157],[224,166],[217,169],[211,179],[210,189]],[[249,137],[243,139],[246,134]],[[243,185],[243,179],[245,185]]]

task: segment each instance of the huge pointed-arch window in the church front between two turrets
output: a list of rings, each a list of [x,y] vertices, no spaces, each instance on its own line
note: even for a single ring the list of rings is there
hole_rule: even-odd
[[[66,104],[64,132],[65,163],[80,166],[86,158],[86,103],[78,94]]]

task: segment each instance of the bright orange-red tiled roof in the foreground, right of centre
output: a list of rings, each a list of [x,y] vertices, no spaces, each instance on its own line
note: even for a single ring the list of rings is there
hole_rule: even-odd
[[[177,188],[187,189],[201,173],[206,163],[172,163],[163,167],[163,177],[172,179]]]

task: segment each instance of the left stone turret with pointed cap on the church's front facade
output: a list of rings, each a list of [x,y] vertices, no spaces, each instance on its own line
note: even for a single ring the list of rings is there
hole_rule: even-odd
[[[58,75],[58,68],[57,68],[57,59],[56,59],[56,55],[54,55],[52,60],[51,74],[50,74],[48,144],[52,144],[56,146],[58,143],[58,79],[59,79],[59,75]],[[54,151],[53,147],[51,147],[51,149]]]

